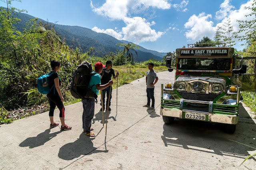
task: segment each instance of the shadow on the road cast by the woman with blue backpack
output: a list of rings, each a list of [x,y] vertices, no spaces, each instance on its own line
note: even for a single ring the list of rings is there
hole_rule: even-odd
[[[56,127],[58,128],[58,127]],[[29,137],[25,139],[22,143],[20,143],[20,147],[29,147],[35,148],[44,145],[46,142],[50,141],[54,137],[57,136],[58,133],[62,131],[57,131],[54,133],[50,133],[50,129],[46,129],[44,132],[39,133],[36,137]]]

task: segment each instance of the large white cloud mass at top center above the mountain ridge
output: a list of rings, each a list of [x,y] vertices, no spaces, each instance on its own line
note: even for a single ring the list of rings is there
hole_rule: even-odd
[[[183,0],[180,6],[186,6],[188,1]],[[114,31],[114,29],[100,29],[93,27],[92,30],[96,32],[106,33],[112,35],[116,39],[123,38],[134,43],[141,43],[144,41],[156,41],[164,32],[152,29],[152,25],[156,25],[155,21],[147,21],[145,18],[132,17],[132,14],[144,12],[150,7],[157,9],[170,9],[171,4],[168,0],[106,0],[100,6],[95,7],[91,0],[91,8],[96,14],[106,16],[111,20],[122,20],[126,24],[122,27],[122,31]]]

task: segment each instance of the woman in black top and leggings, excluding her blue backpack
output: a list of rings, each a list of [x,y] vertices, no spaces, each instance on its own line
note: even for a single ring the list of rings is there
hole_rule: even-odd
[[[49,117],[50,117],[50,128],[56,127],[59,125],[59,123],[54,122],[53,120],[53,113],[54,109],[57,106],[60,110],[60,122],[61,122],[61,130],[70,130],[72,127],[65,124],[65,107],[63,105],[63,96],[60,91],[60,85],[61,80],[58,76],[58,71],[60,70],[60,62],[59,61],[51,61],[51,67],[52,71],[48,74],[49,75],[49,87],[51,87],[50,92],[47,94],[47,97],[49,98],[49,104],[50,104],[50,111],[49,111]]]

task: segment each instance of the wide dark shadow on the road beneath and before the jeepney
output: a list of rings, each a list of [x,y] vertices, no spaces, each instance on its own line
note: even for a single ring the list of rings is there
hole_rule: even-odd
[[[248,117],[244,107],[240,109],[242,118]],[[175,119],[171,125],[164,124],[163,129],[162,140],[166,147],[182,147],[238,158],[246,158],[250,155],[248,151],[256,152],[256,124],[251,118],[238,121],[234,134],[225,133],[223,124],[189,119]]]

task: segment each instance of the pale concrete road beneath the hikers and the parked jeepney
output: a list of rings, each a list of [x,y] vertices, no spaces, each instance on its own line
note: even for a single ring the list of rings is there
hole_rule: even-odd
[[[9,169],[256,169],[256,121],[240,105],[233,135],[222,126],[176,119],[165,125],[160,116],[160,84],[174,81],[174,72],[159,72],[155,88],[156,110],[147,111],[145,77],[116,89],[105,138],[100,104],[92,127],[95,138],[82,133],[82,103],[66,106],[70,131],[49,129],[48,112],[0,125],[0,170]],[[54,113],[59,121],[58,111]],[[106,119],[106,112],[104,113]]]

